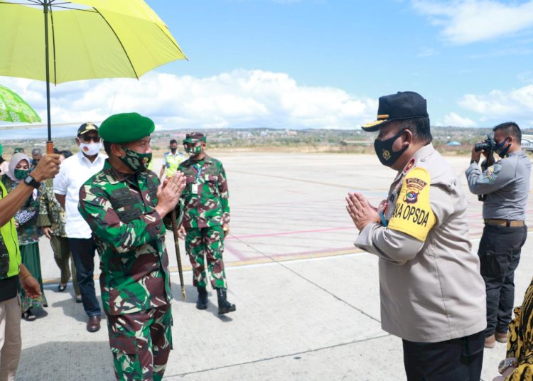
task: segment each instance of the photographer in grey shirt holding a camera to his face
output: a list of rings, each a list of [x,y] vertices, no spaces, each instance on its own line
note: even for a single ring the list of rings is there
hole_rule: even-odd
[[[485,348],[494,348],[495,341],[507,343],[515,299],[515,269],[520,249],[527,237],[527,196],[531,163],[522,151],[522,132],[514,122],[498,124],[494,137],[475,144],[470,166],[466,170],[468,188],[483,195],[483,236],[478,255],[481,276],[487,292],[487,328]],[[495,162],[492,153],[500,156]],[[486,160],[478,166],[481,154]]]

